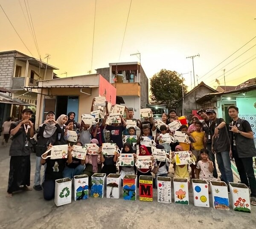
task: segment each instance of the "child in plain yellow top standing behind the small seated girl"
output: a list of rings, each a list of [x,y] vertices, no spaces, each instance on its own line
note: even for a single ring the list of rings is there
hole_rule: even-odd
[[[191,143],[192,153],[195,155],[196,160],[200,160],[200,150],[206,148],[206,142],[204,138],[204,132],[201,131],[202,123],[195,121],[195,131],[191,133],[191,136],[195,139],[195,142]],[[190,164],[192,179],[195,178],[195,164]]]

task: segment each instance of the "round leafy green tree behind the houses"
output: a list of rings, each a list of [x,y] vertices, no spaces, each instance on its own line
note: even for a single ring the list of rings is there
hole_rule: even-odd
[[[160,70],[150,79],[151,99],[166,103],[166,107],[172,108],[174,102],[182,97],[182,79],[176,71]],[[184,95],[188,87],[183,85]]]

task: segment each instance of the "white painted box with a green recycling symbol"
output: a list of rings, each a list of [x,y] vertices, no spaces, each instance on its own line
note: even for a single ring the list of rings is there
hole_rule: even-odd
[[[71,186],[72,181],[70,178],[62,178],[55,180],[54,203],[56,204],[56,206],[71,203]]]

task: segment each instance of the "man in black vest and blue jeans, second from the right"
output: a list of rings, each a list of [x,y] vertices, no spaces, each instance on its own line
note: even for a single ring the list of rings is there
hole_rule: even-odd
[[[217,118],[213,109],[205,112],[212,120],[210,134],[212,136],[212,153],[216,153],[218,169],[221,172],[221,178],[229,185],[233,182],[233,172],[230,162],[230,139],[227,132],[226,122],[224,119]]]

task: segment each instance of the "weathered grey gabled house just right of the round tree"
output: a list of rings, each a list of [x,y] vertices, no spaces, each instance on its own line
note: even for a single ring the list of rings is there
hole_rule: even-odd
[[[196,114],[196,110],[199,110],[200,108],[214,108],[215,103],[208,103],[208,104],[198,104],[196,101],[203,97],[206,94],[209,93],[216,93],[217,90],[214,90],[213,88],[206,85],[204,82],[201,82],[198,84],[195,88],[193,88],[191,91],[186,93],[184,96],[184,104],[183,104],[183,98],[177,100],[176,102],[176,112],[177,116],[180,115],[189,115],[189,114]],[[182,110],[184,109],[184,113],[182,113]]]

